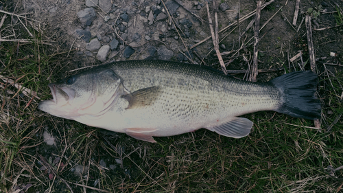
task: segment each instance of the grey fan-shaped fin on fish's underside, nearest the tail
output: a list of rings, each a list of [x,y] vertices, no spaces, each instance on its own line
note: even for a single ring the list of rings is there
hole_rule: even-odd
[[[233,117],[230,118],[228,122],[206,128],[226,137],[241,138],[249,135],[252,124],[253,123],[246,118]]]

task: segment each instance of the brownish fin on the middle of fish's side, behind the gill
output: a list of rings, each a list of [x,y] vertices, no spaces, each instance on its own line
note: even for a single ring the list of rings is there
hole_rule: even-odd
[[[128,100],[129,104],[126,109],[135,109],[143,106],[150,106],[154,104],[156,99],[161,95],[162,89],[160,87],[148,87],[139,89],[133,93],[123,95],[122,97]]]

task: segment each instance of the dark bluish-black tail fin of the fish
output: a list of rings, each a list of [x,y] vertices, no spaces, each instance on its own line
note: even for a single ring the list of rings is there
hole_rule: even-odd
[[[283,104],[276,112],[309,120],[320,117],[320,101],[314,96],[317,81],[312,71],[295,71],[271,80],[283,92]]]

